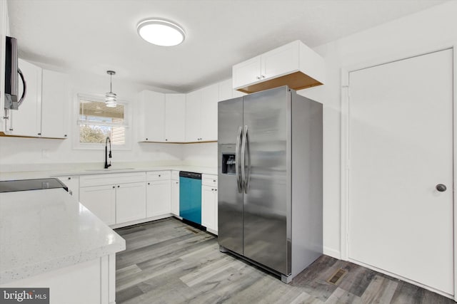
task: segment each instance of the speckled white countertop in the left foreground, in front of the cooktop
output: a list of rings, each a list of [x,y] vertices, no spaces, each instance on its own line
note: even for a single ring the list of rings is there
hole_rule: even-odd
[[[64,189],[0,193],[0,285],[125,248]]]

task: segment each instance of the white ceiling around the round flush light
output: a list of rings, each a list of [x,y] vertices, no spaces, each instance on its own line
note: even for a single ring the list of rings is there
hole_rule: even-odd
[[[445,0],[9,0],[19,55],[64,69],[189,92],[231,66],[294,40],[311,48]],[[146,43],[136,24],[162,17],[186,41]],[[108,76],[106,76],[108,77]]]

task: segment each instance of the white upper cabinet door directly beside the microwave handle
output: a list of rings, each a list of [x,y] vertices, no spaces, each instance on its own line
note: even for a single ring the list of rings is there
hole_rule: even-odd
[[[41,68],[19,59],[19,68],[27,83],[27,92],[19,110],[9,110],[9,130],[12,135],[41,135]],[[24,88],[19,80],[19,96]]]

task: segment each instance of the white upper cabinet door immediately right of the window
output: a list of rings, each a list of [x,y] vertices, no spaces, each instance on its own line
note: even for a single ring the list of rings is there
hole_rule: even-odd
[[[141,92],[141,117],[143,118],[143,138],[141,141],[165,141],[165,95],[162,93]]]

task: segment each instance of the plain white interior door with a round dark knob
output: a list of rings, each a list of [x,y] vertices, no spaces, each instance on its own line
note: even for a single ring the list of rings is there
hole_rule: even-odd
[[[356,70],[349,92],[349,259],[452,295],[453,51]]]

